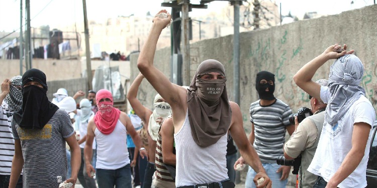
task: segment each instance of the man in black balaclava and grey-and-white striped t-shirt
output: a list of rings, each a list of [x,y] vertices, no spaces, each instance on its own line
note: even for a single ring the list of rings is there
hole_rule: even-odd
[[[272,180],[273,187],[286,187],[291,166],[276,164],[277,156],[283,155],[286,129],[291,135],[295,125],[289,122],[292,110],[286,103],[275,98],[275,75],[267,71],[261,71],[256,76],[255,88],[259,94],[259,100],[250,105],[251,132],[248,137],[253,144],[262,162],[268,177]],[[240,157],[237,163],[244,163]],[[253,177],[256,172],[249,167],[246,176],[245,187],[255,187]]]

